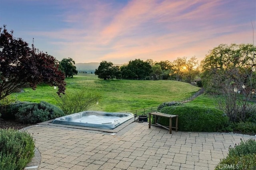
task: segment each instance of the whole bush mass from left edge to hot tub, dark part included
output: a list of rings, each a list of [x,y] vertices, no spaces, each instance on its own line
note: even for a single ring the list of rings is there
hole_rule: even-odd
[[[6,109],[2,112],[2,117],[4,119],[15,118],[16,121],[22,123],[39,123],[64,115],[64,112],[60,108],[44,101],[41,101],[40,103],[12,103],[6,106]]]

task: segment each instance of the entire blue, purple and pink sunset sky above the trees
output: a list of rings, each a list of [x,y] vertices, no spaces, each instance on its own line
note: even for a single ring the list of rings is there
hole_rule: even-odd
[[[59,61],[201,61],[221,43],[252,44],[252,24],[256,44],[256,0],[0,0],[4,24]]]

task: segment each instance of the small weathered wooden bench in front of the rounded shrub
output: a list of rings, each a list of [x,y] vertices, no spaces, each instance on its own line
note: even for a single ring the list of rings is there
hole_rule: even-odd
[[[151,124],[151,115],[155,115],[155,124]],[[156,123],[157,121],[157,117],[160,116],[160,117],[168,117],[170,119],[170,125],[169,127],[168,126],[163,126],[163,125],[160,125],[159,123]],[[176,117],[176,127],[172,127],[172,118],[173,117]],[[176,132],[178,131],[178,115],[169,115],[169,114],[166,114],[166,113],[160,113],[160,112],[153,112],[153,113],[149,113],[149,123],[148,123],[148,128],[150,128],[150,125],[152,126],[158,126],[158,127],[163,127],[165,129],[168,129],[170,131],[170,134],[172,134],[172,128],[175,128],[176,129]]]

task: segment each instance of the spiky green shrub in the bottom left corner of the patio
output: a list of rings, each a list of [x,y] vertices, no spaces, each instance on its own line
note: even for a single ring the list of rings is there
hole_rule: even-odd
[[[0,169],[24,169],[34,157],[34,146],[34,140],[29,133],[0,129]]]

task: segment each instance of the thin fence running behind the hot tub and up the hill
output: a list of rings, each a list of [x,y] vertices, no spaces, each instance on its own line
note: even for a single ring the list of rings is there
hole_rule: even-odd
[[[180,101],[176,101],[176,102],[182,102],[182,103],[186,103],[189,102],[191,100],[194,100],[194,98],[196,98],[197,96],[199,96],[200,94],[204,93],[204,88],[201,88],[198,92],[196,92],[195,94],[193,94],[193,96],[186,98],[184,100],[180,100]],[[147,114],[148,113],[152,113],[157,111],[157,107],[148,107],[148,108],[144,108],[144,109],[138,109],[138,110],[130,110],[130,111],[122,111],[121,113],[134,113],[136,115],[142,115],[143,113]]]

